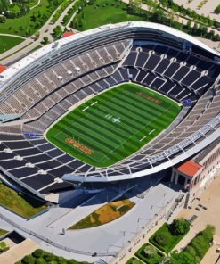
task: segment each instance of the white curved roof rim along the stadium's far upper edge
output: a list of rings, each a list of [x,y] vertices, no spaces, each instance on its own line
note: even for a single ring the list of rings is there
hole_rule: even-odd
[[[62,46],[69,45],[71,42],[80,40],[81,38],[84,37],[91,37],[93,35],[99,35],[99,34],[102,36],[102,34],[105,34],[105,32],[110,32],[110,31],[112,32],[112,34],[114,34],[114,31],[117,30],[135,29],[135,28],[159,30],[164,32],[165,34],[170,34],[173,37],[178,37],[180,39],[187,40],[193,43],[194,45],[198,45],[200,46],[200,48],[203,48],[212,54],[216,54],[216,56],[220,55],[218,52],[210,48],[208,45],[205,45],[204,43],[200,42],[200,40],[196,39],[195,37],[191,37],[190,35],[184,33],[183,31],[173,29],[158,23],[143,22],[143,21],[128,21],[118,24],[104,25],[102,27],[95,29],[89,29],[83,32],[79,32],[78,34],[74,34],[70,37],[63,37],[51,44],[45,45],[44,47],[38,49],[34,53],[24,57],[19,62],[15,62],[10,68],[5,70],[4,74],[2,74],[0,78],[0,87],[2,86],[2,89],[4,89],[4,84],[6,83],[6,81],[13,78],[18,72],[20,72],[20,70],[28,68],[31,64],[33,65],[34,62],[37,62],[40,58],[45,57],[48,54],[52,53],[54,49],[58,50]]]

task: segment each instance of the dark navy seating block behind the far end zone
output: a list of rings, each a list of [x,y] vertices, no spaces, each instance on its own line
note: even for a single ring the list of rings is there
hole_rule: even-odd
[[[134,81],[181,102],[200,98],[220,70],[220,65],[164,45],[133,47],[123,66]]]

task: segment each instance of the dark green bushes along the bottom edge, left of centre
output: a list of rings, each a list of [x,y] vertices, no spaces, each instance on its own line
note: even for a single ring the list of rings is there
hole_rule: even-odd
[[[88,264],[88,262],[79,262],[77,260],[67,260],[63,257],[58,257],[50,252],[45,252],[41,249],[36,250],[31,255],[25,256],[22,260],[16,262],[15,264]]]

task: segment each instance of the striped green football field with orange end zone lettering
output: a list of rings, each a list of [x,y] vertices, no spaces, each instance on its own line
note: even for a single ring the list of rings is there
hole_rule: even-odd
[[[180,111],[181,106],[167,96],[126,83],[70,111],[46,138],[65,153],[104,168],[148,144]]]

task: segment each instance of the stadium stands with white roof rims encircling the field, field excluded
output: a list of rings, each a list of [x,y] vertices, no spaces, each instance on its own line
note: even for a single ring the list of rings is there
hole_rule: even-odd
[[[106,25],[46,45],[0,76],[0,169],[48,199],[72,183],[129,180],[178,166],[219,138],[220,54],[150,22]],[[95,168],[45,138],[56,120],[104,90],[134,82],[182,105],[172,124],[123,161]]]

